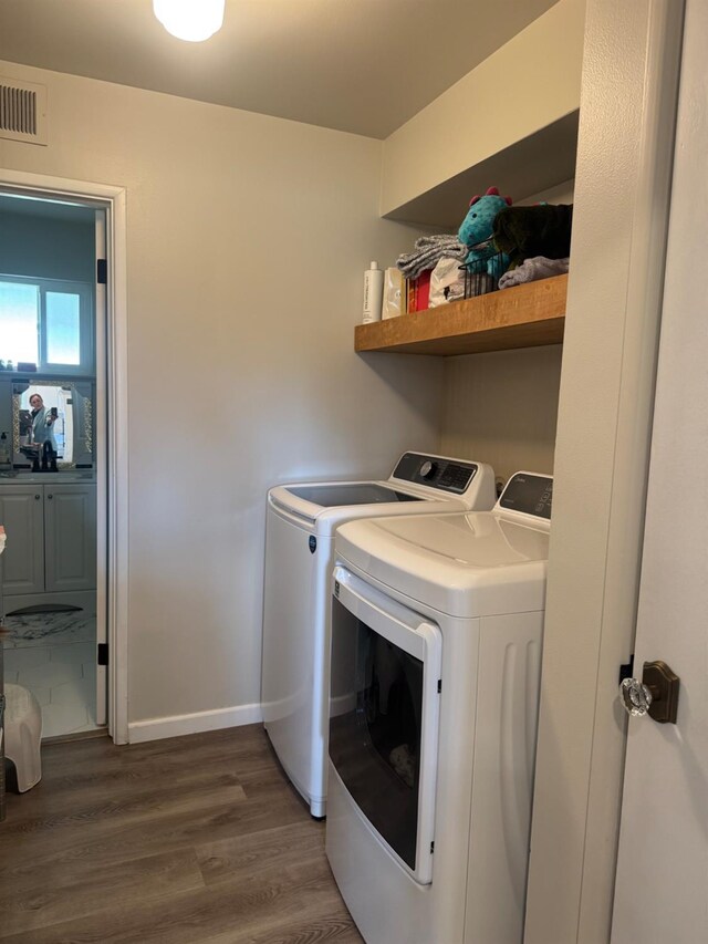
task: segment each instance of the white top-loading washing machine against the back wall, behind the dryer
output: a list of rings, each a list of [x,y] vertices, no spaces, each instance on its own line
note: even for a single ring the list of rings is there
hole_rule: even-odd
[[[405,453],[385,481],[302,483],[268,494],[261,703],[285,772],[325,815],[334,530],[353,518],[491,508],[481,463]]]

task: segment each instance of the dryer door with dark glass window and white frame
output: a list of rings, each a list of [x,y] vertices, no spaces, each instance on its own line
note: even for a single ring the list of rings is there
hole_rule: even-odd
[[[378,838],[433,879],[441,634],[342,567],[332,599],[330,758]]]

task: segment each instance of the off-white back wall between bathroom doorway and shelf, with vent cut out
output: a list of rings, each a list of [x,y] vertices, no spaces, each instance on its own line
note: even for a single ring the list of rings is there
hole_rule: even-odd
[[[50,128],[0,167],[127,189],[129,719],[251,705],[267,488],[438,446],[441,365],[353,353],[419,232],[378,218],[381,142],[0,65]]]

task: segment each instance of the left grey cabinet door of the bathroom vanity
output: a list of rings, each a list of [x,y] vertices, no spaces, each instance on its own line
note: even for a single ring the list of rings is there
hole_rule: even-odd
[[[3,485],[0,488],[0,525],[4,525],[8,536],[2,554],[6,597],[44,592],[42,497],[41,485]]]

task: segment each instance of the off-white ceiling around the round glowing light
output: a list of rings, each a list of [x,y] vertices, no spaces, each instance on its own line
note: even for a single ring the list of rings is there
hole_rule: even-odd
[[[0,0],[0,59],[384,138],[554,2],[227,0],[186,43],[152,0]]]

